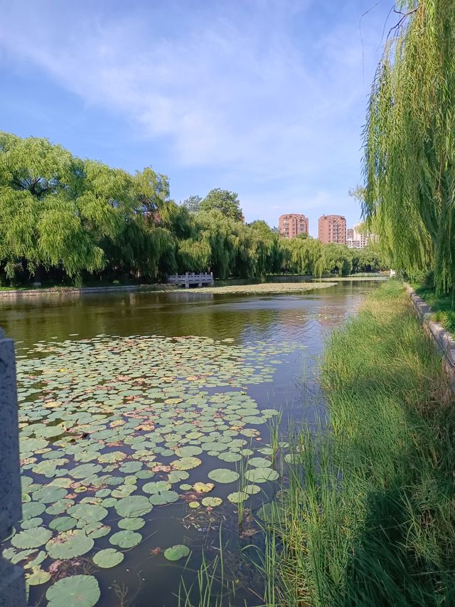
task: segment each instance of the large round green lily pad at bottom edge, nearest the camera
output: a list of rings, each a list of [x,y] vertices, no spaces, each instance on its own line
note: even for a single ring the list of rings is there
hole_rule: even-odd
[[[100,586],[93,576],[69,576],[48,588],[48,607],[93,607],[100,599]]]

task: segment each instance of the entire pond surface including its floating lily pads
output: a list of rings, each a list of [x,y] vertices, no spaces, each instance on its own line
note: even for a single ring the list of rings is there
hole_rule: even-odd
[[[223,604],[260,605],[255,516],[277,489],[288,428],[323,409],[326,338],[377,285],[0,300],[18,357],[24,500],[4,549],[27,567],[29,604],[68,606],[72,593],[95,604],[99,586],[100,606],[198,606],[196,572],[221,547],[222,586],[235,588]]]

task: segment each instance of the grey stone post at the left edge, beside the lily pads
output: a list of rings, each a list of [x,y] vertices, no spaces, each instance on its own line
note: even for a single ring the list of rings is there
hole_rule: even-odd
[[[0,329],[0,541],[22,518],[14,344]],[[0,556],[0,607],[26,605],[21,566]]]

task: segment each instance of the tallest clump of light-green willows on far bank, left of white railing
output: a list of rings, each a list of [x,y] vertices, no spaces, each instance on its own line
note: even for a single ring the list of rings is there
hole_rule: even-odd
[[[0,134],[0,268],[73,278],[107,263],[156,275],[170,235],[156,227],[168,181],[81,160],[47,139]]]

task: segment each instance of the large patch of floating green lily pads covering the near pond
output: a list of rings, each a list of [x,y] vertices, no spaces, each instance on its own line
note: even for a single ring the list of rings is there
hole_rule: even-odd
[[[28,584],[45,584],[50,559],[117,566],[146,537],[153,509],[186,492],[197,497],[190,507],[220,505],[212,491],[219,483],[235,490],[237,461],[255,455],[251,441],[278,413],[260,410],[245,386],[272,381],[273,357],[291,349],[159,336],[36,344],[18,361],[23,521],[4,556],[26,567]],[[220,463],[201,478],[207,455]],[[245,476],[248,497],[277,473],[257,454]],[[188,554],[181,545],[164,552]],[[70,576],[46,593],[53,606],[64,595],[65,606],[95,604],[97,581]]]

